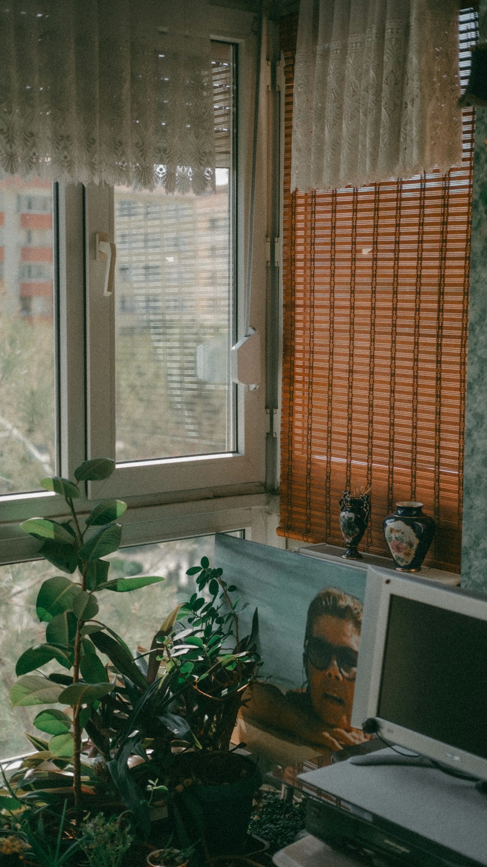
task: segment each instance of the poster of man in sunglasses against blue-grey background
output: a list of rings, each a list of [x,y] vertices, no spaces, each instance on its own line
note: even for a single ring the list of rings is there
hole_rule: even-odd
[[[257,604],[265,663],[266,676],[247,691],[234,741],[281,765],[318,754],[331,759],[343,746],[362,743],[367,735],[353,728],[350,718],[365,568],[349,570],[242,539],[217,539],[215,562],[218,558],[227,574],[221,555],[231,553],[232,581],[240,577],[250,610]]]

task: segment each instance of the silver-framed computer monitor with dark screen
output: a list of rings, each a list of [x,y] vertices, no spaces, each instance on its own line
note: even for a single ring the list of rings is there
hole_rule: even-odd
[[[487,598],[368,568],[352,725],[487,779]],[[369,724],[370,725],[370,724]]]

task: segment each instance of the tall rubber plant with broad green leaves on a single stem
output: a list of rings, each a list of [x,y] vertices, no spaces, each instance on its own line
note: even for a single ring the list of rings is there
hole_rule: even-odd
[[[18,680],[10,690],[10,701],[14,707],[61,704],[71,708],[71,715],[57,707],[42,709],[34,725],[50,739],[28,737],[39,751],[38,759],[52,759],[58,766],[72,763],[77,815],[82,733],[86,727],[94,730],[99,701],[108,698],[116,683],[98,651],[109,656],[127,681],[142,676],[122,638],[96,619],[97,596],[104,590],[124,593],[163,581],[158,576],[109,578],[110,563],[103,557],[119,549],[122,526],[118,519],[125,512],[124,502],[102,500],[84,521],[74,509],[81,486],[108,478],[114,468],[115,462],[107,458],[86,460],[74,470],[74,480],[60,476],[42,479],[43,488],[66,500],[70,518],[61,522],[29,518],[21,525],[42,541],[39,554],[64,574],[48,578],[39,590],[36,613],[46,626],[46,640],[25,650],[18,659]],[[46,674],[42,668],[52,662],[59,663],[61,671]]]

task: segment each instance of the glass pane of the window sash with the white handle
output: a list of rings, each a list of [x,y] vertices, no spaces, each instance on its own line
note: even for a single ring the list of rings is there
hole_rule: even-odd
[[[115,189],[118,462],[233,451],[233,48],[214,48],[216,192]]]

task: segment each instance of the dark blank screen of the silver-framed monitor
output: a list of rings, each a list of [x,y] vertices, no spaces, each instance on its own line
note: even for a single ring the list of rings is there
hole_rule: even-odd
[[[487,623],[391,596],[378,715],[487,759]]]

